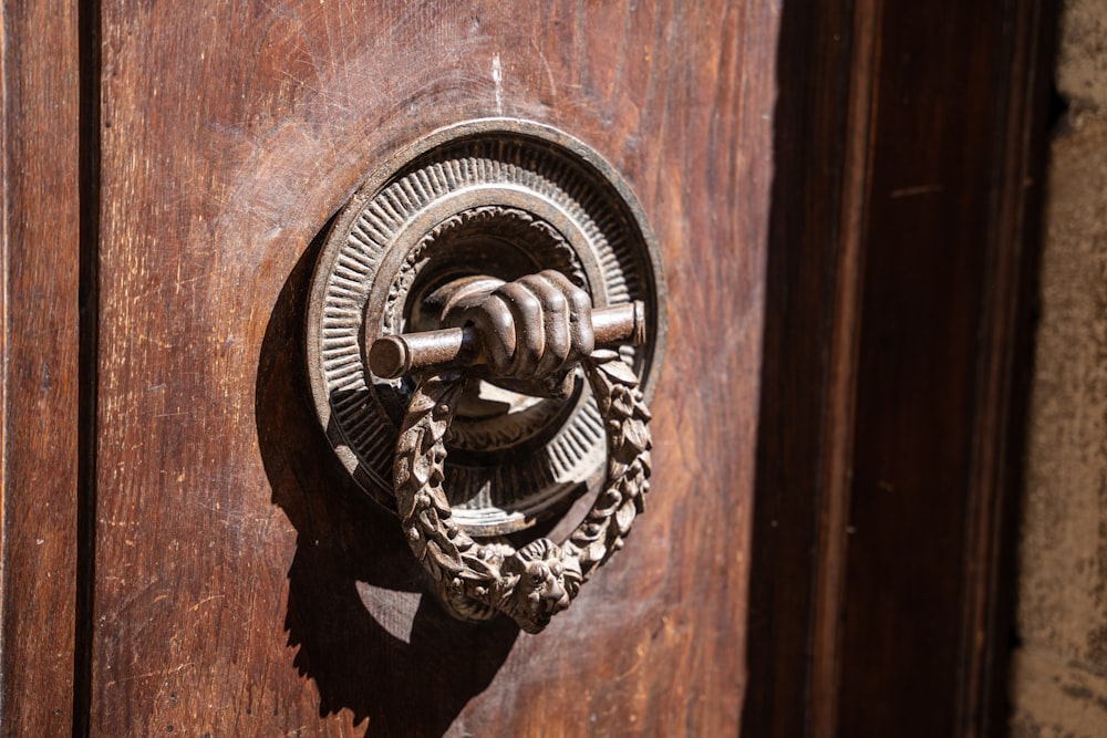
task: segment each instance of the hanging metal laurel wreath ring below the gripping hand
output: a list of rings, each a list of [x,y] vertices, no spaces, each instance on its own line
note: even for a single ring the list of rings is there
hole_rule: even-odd
[[[452,520],[445,438],[465,377],[428,374],[412,395],[396,440],[396,511],[452,615],[473,621],[504,613],[524,631],[540,632],[622,548],[642,511],[652,443],[639,380],[614,351],[596,351],[581,367],[603,419],[607,479],[588,514],[560,544],[547,538],[520,549],[504,539],[478,542]]]

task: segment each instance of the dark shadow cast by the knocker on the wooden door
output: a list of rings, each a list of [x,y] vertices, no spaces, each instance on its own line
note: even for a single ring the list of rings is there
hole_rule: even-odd
[[[366,736],[441,735],[492,682],[518,626],[472,625],[424,592],[399,521],[361,492],[311,406],[303,325],[329,225],[286,281],[261,346],[258,441],[272,500],[297,530],[286,628],[321,716],[343,708]]]

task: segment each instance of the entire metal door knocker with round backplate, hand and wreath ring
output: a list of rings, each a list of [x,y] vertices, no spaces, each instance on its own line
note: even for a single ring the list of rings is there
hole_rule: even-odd
[[[663,294],[625,183],[535,123],[436,132],[335,220],[308,314],[319,418],[455,616],[537,633],[622,547],[649,488]],[[513,544],[584,496],[563,541]]]

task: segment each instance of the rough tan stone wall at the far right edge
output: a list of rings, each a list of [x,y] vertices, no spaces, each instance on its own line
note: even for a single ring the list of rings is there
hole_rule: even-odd
[[[1107,0],[1067,0],[1011,684],[1014,738],[1107,736]]]

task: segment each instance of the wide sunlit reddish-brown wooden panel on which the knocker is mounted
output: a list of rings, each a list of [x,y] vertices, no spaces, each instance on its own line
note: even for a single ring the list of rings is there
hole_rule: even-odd
[[[776,23],[755,2],[104,6],[94,732],[737,729]],[[420,599],[302,367],[331,214],[399,145],[490,115],[607,157],[670,289],[651,509],[539,637]]]

